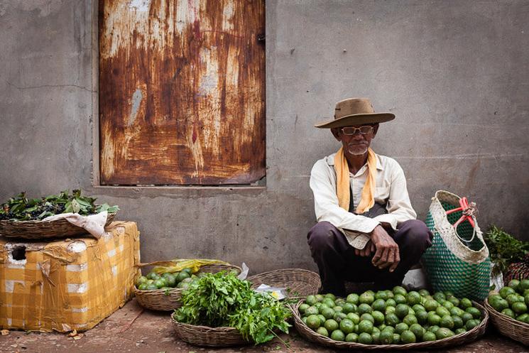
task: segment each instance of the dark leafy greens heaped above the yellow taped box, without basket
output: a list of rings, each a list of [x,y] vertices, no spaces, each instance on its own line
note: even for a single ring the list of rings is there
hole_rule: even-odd
[[[55,214],[76,212],[82,215],[95,214],[102,211],[117,212],[119,207],[95,205],[94,197],[81,195],[81,190],[68,190],[60,192],[59,195],[49,195],[41,198],[28,198],[26,192],[21,192],[11,197],[7,202],[0,205],[0,220],[27,221],[32,219],[44,219]]]

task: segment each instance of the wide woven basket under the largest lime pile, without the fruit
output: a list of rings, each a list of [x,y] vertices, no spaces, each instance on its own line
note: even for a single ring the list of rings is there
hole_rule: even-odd
[[[419,343],[408,343],[408,344],[361,344],[361,343],[354,343],[354,342],[338,342],[331,340],[329,337],[325,337],[323,335],[318,334],[317,332],[313,331],[305,325],[305,323],[301,320],[300,312],[298,310],[299,306],[304,302],[305,300],[300,300],[298,304],[296,304],[293,307],[293,315],[294,315],[294,324],[296,330],[302,335],[302,337],[305,337],[307,340],[311,342],[320,343],[327,347],[333,347],[333,348],[339,348],[339,349],[400,349],[400,350],[406,350],[406,349],[422,349],[422,348],[441,348],[441,347],[451,347],[451,346],[457,346],[458,344],[468,343],[471,341],[476,340],[479,336],[483,335],[486,330],[487,322],[489,321],[489,314],[487,313],[487,310],[479,305],[476,302],[472,302],[476,308],[479,308],[481,311],[481,315],[483,315],[483,320],[481,320],[480,324],[474,327],[472,330],[464,332],[459,335],[455,335],[452,337],[444,338],[442,340],[437,341],[429,341],[429,342],[419,342]]]

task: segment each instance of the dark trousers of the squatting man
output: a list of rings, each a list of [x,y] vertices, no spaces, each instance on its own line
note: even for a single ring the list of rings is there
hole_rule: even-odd
[[[344,234],[329,222],[319,222],[312,227],[307,239],[312,259],[320,270],[322,293],[344,296],[344,281],[374,282],[376,290],[402,284],[406,272],[432,245],[433,235],[426,224],[417,219],[401,223],[398,231],[388,234],[398,244],[400,254],[400,263],[392,273],[388,268],[381,270],[371,264],[374,254],[356,256]]]

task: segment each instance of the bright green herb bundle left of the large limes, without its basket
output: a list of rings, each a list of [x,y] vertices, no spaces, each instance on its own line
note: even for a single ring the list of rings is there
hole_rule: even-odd
[[[290,310],[267,293],[256,293],[248,281],[234,273],[207,273],[182,293],[179,322],[209,327],[235,327],[245,340],[256,344],[288,333]]]

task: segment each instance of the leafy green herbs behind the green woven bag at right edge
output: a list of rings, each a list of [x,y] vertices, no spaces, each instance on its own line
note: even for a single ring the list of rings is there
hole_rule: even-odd
[[[489,247],[491,260],[496,264],[494,273],[504,272],[510,264],[523,261],[523,256],[529,253],[528,241],[520,241],[495,225],[486,232],[484,239]]]

